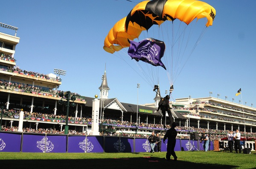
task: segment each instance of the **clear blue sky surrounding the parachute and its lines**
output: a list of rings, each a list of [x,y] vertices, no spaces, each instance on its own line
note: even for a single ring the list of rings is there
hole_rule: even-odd
[[[134,0],[138,3],[139,0]],[[190,56],[177,80],[172,100],[208,97],[256,106],[256,23],[255,0],[204,0],[216,9],[213,25]],[[99,95],[102,75],[107,72],[109,98],[137,104],[154,102],[153,87],[134,71],[133,62],[103,50],[104,39],[113,25],[136,3],[127,0],[12,0],[1,1],[1,23],[18,27],[20,43],[15,59],[21,69],[61,76],[60,90],[82,96]],[[0,31],[14,34],[1,28]],[[161,93],[170,85],[160,70]],[[235,96],[241,87],[242,95]]]

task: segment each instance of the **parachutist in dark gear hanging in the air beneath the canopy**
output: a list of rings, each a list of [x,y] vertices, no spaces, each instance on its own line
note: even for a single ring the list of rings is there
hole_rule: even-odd
[[[169,95],[166,95],[164,98],[161,98],[161,100],[159,101],[159,104],[158,104],[158,108],[157,108],[157,111],[159,111],[159,110],[162,111],[164,128],[166,128],[166,121],[165,121],[166,120],[166,111],[167,111],[169,119],[170,119],[170,124],[172,124],[174,121],[172,118],[172,113],[171,113],[172,108],[169,105],[169,99],[170,99]]]

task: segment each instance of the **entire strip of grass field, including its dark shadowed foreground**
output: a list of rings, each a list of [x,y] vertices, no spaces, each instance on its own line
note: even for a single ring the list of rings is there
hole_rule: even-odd
[[[155,153],[23,153],[0,152],[1,169],[256,169],[256,152],[176,152],[177,161]]]

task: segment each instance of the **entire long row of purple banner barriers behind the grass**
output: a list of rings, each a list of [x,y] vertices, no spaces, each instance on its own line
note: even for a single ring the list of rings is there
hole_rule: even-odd
[[[161,152],[166,152],[167,141],[162,140]],[[151,147],[147,138],[68,135],[67,141],[67,135],[0,132],[0,152],[20,152],[20,149],[22,152],[150,152]],[[213,149],[211,141],[209,150]],[[193,150],[204,150],[203,143],[176,139],[175,151]]]

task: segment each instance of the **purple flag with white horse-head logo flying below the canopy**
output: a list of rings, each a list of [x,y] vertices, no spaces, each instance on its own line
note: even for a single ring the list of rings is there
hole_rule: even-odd
[[[137,62],[140,60],[154,66],[162,66],[165,70],[161,58],[165,51],[165,44],[162,41],[153,38],[147,38],[140,42],[130,40],[128,55]]]

